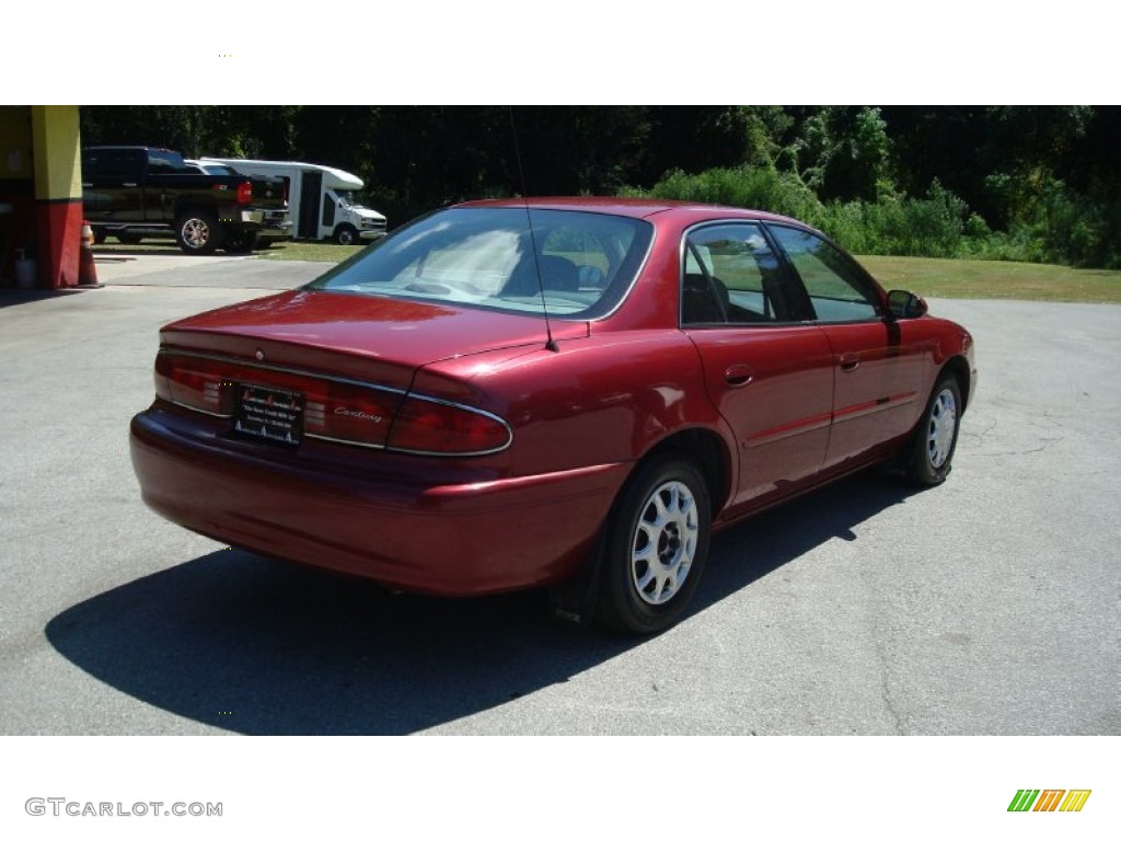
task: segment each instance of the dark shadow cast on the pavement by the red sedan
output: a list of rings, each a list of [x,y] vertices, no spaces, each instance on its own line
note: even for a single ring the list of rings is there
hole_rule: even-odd
[[[861,475],[722,533],[689,616],[814,546],[851,537],[912,490]],[[252,734],[416,732],[647,644],[554,622],[539,593],[391,595],[239,549],[89,599],[52,619],[46,636],[121,692]]]

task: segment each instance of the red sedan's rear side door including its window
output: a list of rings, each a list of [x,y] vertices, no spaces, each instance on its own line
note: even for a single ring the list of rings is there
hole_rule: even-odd
[[[682,269],[682,329],[738,444],[734,515],[738,506],[797,490],[821,470],[833,409],[832,351],[817,325],[795,322],[759,223],[693,229]]]

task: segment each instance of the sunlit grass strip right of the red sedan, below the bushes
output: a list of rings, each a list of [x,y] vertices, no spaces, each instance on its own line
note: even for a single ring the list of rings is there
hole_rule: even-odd
[[[998,260],[858,259],[884,288],[924,297],[1121,304],[1121,271]]]

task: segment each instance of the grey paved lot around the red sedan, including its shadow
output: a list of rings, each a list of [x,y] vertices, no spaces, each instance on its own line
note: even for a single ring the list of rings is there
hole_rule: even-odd
[[[1121,733],[1121,307],[932,302],[981,369],[951,479],[861,475],[722,533],[685,621],[634,640],[143,507],[159,325],[323,269],[154,256],[0,290],[0,732]]]

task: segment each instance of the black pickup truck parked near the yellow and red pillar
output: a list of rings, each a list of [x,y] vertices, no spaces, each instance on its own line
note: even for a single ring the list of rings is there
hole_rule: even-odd
[[[206,175],[177,151],[148,146],[83,149],[82,202],[94,242],[172,233],[187,253],[205,255],[289,237],[282,178]]]

